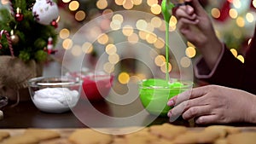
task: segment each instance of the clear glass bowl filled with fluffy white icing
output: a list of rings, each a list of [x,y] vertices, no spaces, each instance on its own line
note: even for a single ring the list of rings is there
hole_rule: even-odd
[[[39,110],[61,113],[76,106],[82,81],[67,76],[39,77],[30,79],[28,85],[32,101]]]

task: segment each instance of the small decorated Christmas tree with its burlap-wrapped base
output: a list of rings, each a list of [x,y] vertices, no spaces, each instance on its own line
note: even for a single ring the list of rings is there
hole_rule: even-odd
[[[52,26],[51,22],[58,16],[57,6],[50,0],[44,5],[42,0],[37,2],[35,6],[34,0],[12,0],[7,3],[9,7],[0,7],[0,66],[4,67],[0,70],[0,95],[17,102],[29,100],[24,96],[28,93],[27,80],[42,76],[42,62],[55,53],[57,24]],[[35,17],[32,8],[44,13],[34,13],[38,15]]]

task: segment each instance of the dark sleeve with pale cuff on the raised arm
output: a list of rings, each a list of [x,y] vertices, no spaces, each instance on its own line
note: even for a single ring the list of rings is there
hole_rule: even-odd
[[[201,59],[195,64],[195,77],[207,81],[210,84],[218,84],[236,89],[243,89],[256,94],[256,36],[245,56],[245,63],[241,63],[230,52],[224,48],[217,65],[212,71],[206,62]]]

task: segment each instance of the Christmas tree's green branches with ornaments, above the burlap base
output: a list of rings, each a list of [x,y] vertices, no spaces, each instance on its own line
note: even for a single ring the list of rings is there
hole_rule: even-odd
[[[51,0],[2,1],[0,7],[0,55],[44,61],[57,41],[58,7]],[[1,5],[0,4],[0,5]],[[5,35],[4,35],[5,34]]]

